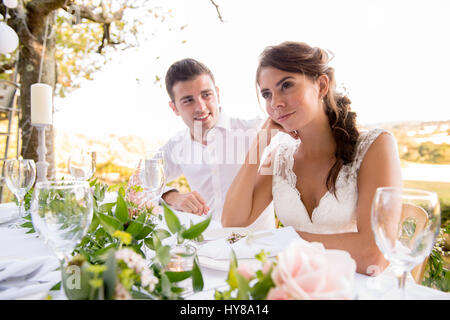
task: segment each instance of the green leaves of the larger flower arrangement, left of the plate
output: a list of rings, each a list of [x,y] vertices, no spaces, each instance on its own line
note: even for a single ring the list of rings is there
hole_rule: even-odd
[[[80,267],[80,285],[77,288],[67,286],[67,281],[70,283],[72,276],[68,271],[63,272],[62,277],[69,299],[112,299],[118,281],[133,297],[140,299],[181,299],[184,289],[178,287],[177,283],[189,277],[192,278],[194,291],[203,289],[203,276],[196,257],[192,270],[166,270],[171,257],[171,247],[163,245],[162,240],[173,236],[178,243],[183,243],[185,240],[201,238],[211,218],[198,224],[191,222],[189,227],[185,227],[175,213],[164,206],[164,217],[170,230],[168,231],[159,227],[158,222],[162,217],[153,212],[154,208],[138,207],[130,202],[122,187],[117,191],[117,199],[114,202],[104,203],[108,185],[96,179],[90,184],[94,190],[92,222],[87,234],[73,251],[69,263],[69,266]],[[32,226],[31,222],[30,225]],[[141,286],[136,272],[126,265],[116,263],[114,254],[123,248],[130,249],[143,258],[147,249],[155,252],[149,267],[158,283],[151,292]]]

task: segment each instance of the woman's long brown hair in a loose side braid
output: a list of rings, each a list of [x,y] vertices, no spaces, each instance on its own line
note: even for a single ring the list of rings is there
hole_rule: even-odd
[[[325,74],[329,79],[327,94],[323,97],[325,113],[336,141],[336,162],[327,176],[327,189],[336,195],[336,180],[343,165],[353,161],[359,131],[356,113],[351,111],[350,99],[336,92],[334,69],[328,65],[328,53],[303,42],[283,42],[267,47],[260,56],[256,81],[264,67],[273,67],[292,73],[301,73],[312,79]]]

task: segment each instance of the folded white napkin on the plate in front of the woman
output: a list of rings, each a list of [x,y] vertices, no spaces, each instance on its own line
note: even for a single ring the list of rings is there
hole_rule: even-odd
[[[301,237],[290,226],[261,230],[255,231],[233,244],[230,244],[225,238],[209,241],[199,246],[197,254],[216,260],[229,260],[233,249],[238,259],[251,259],[264,250],[269,253],[269,257],[274,257],[283,251],[291,241],[298,239],[301,240]]]

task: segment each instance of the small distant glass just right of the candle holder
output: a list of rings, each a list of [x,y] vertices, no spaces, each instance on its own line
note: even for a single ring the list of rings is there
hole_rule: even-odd
[[[89,180],[95,173],[97,153],[92,150],[82,150],[72,153],[69,157],[69,172],[75,180]]]

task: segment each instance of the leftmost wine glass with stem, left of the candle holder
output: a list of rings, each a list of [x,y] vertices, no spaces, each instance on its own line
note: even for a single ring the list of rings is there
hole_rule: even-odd
[[[36,164],[32,159],[18,159],[5,161],[5,180],[9,190],[19,202],[19,218],[25,213],[24,199],[28,190],[33,186],[36,179]],[[20,225],[19,222],[17,225]],[[10,225],[14,227],[16,225]]]

